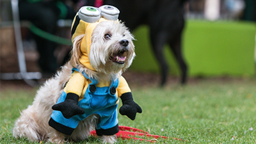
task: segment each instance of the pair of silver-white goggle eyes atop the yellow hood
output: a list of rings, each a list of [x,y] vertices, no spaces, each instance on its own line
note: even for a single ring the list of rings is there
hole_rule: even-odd
[[[78,12],[78,16],[84,22],[97,22],[100,17],[108,20],[117,20],[120,11],[115,6],[104,5],[99,8],[93,6],[83,6]]]

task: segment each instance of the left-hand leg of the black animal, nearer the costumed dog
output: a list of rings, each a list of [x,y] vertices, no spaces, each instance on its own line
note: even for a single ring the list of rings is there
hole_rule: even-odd
[[[163,48],[164,48],[164,44],[166,42],[167,36],[168,35],[165,32],[154,33],[150,31],[150,41],[152,44],[152,48],[161,68],[161,74],[162,74],[161,83],[160,83],[161,86],[163,86],[166,83],[166,79],[168,76],[168,65],[166,63],[166,60],[163,54]]]

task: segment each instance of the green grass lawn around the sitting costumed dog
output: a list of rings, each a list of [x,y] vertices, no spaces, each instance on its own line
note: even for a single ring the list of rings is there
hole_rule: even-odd
[[[143,113],[134,121],[119,115],[119,125],[171,137],[159,139],[160,143],[256,143],[256,79],[202,79],[186,86],[131,88]],[[36,89],[1,91],[1,144],[29,143],[13,138],[12,127],[19,110],[33,102],[35,92]],[[77,143],[99,141],[90,137]],[[147,142],[118,139],[118,143]]]

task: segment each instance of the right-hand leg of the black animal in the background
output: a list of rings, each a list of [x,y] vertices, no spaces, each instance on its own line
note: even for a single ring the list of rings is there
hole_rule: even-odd
[[[177,59],[177,62],[179,63],[182,72],[181,83],[186,84],[188,67],[182,56],[181,35],[175,36],[175,38],[170,40],[168,43],[173,51],[175,58]]]

